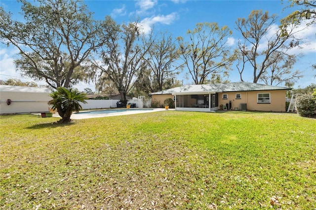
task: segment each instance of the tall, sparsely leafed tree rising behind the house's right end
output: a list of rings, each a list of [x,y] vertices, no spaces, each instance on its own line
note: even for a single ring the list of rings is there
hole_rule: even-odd
[[[238,18],[236,24],[237,30],[244,38],[243,43],[240,41],[238,43],[240,53],[238,64],[241,63],[238,71],[241,81],[243,81],[242,74],[245,73],[244,67],[247,62],[253,67],[254,83],[263,79],[263,75],[267,76],[268,69],[273,70],[274,73],[278,72],[278,76],[280,76],[280,72],[274,69],[277,63],[292,64],[295,62],[295,60],[291,60],[293,55],[287,53],[291,47],[299,44],[299,39],[294,36],[297,33],[295,24],[288,26],[285,31],[277,28],[276,32],[272,33],[273,27],[276,26],[276,15],[269,16],[268,12],[263,13],[261,10],[253,10],[247,19]],[[274,76],[276,77],[276,74]]]

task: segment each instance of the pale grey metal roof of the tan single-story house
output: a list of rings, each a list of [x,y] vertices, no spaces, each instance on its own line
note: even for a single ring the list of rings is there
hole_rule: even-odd
[[[237,92],[237,91],[259,91],[259,90],[290,90],[288,87],[279,87],[251,82],[232,82],[232,83],[214,83],[203,85],[184,85],[181,87],[171,88],[167,90],[158,91],[149,95],[162,94],[205,94],[205,93],[219,93],[219,92]]]

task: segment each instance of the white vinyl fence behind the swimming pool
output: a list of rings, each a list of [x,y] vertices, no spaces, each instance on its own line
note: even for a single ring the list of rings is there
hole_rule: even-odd
[[[80,103],[83,109],[94,109],[94,108],[116,108],[119,100],[85,100],[87,104]],[[133,98],[128,100],[127,103],[134,103],[136,107],[143,108],[143,99]]]

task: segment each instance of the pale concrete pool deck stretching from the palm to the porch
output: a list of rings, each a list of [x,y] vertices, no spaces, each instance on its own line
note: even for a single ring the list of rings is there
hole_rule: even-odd
[[[156,111],[174,110],[174,108],[171,108],[171,109],[154,108],[153,110],[144,110],[144,108],[141,108],[141,110],[139,111],[137,111],[137,108],[132,108],[132,109],[133,111],[122,111],[122,112],[104,113],[104,114],[93,114],[93,110],[91,110],[92,112],[90,112],[89,114],[88,113],[87,114],[73,113],[70,118],[73,120],[80,120],[80,119],[88,119],[88,118],[96,118],[96,117],[111,117],[111,116],[129,115],[129,114],[141,114],[141,113],[149,113],[149,112],[156,112]],[[60,117],[60,116],[58,115],[58,113],[54,113],[53,117]]]

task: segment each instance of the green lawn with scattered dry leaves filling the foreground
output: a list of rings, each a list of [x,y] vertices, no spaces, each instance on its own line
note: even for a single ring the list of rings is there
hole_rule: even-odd
[[[316,120],[163,111],[0,116],[0,209],[316,208]]]

